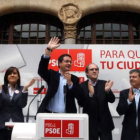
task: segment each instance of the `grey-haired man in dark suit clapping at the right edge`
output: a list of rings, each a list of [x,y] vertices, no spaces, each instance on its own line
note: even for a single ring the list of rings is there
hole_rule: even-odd
[[[124,115],[121,140],[140,140],[140,70],[129,72],[130,89],[120,92],[117,112]]]

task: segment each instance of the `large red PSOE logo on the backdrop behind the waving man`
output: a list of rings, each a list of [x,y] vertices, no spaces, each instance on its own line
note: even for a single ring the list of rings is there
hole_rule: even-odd
[[[51,54],[48,69],[58,71],[58,58],[62,54],[69,54],[72,57],[71,71],[85,71],[86,66],[92,62],[91,49],[56,49]]]

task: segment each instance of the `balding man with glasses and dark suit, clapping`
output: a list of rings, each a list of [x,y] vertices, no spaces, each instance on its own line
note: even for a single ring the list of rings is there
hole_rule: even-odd
[[[86,67],[87,81],[81,83],[85,98],[83,113],[89,115],[89,140],[112,140],[114,129],[108,102],[113,103],[115,96],[111,91],[112,81],[98,79],[99,68],[91,63]]]

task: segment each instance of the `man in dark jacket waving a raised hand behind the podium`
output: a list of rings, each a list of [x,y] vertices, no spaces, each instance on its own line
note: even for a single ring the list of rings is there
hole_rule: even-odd
[[[47,82],[48,90],[38,113],[76,113],[75,98],[81,102],[83,91],[79,85],[79,78],[70,74],[72,58],[63,54],[58,58],[59,71],[48,69],[51,52],[59,47],[59,39],[51,38],[41,57],[38,73]]]

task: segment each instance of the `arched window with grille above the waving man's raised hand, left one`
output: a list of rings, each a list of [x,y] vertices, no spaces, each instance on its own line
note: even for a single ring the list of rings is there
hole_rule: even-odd
[[[16,13],[0,18],[1,44],[45,44],[58,36],[63,44],[63,25],[53,16],[41,13]]]

